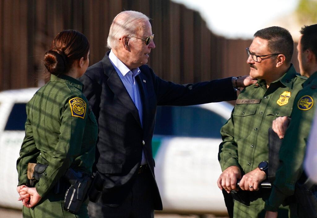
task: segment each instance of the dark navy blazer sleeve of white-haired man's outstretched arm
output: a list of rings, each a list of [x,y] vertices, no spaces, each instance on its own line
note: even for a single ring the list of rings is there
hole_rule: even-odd
[[[232,86],[231,77],[195,84],[179,85],[165,81],[153,75],[157,105],[187,106],[210,102],[236,100],[236,91]]]

